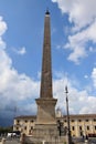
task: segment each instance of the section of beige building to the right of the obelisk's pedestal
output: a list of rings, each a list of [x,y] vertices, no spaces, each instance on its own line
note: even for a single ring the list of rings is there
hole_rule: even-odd
[[[67,127],[66,116],[63,116],[61,121],[64,127]],[[71,115],[70,124],[72,136],[96,134],[96,114]]]

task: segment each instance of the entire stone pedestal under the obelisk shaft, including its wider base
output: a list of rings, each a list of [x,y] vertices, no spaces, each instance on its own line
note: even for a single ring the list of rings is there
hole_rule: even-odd
[[[33,131],[33,137],[50,140],[52,136],[58,136],[55,119],[56,99],[36,99],[38,115]]]

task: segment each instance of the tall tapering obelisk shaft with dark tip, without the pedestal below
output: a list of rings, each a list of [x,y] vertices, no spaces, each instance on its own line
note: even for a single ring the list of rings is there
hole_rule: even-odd
[[[46,11],[44,21],[43,60],[42,60],[42,78],[41,78],[41,93],[40,93],[40,96],[43,99],[53,97],[51,63],[52,61],[51,61],[50,12]]]

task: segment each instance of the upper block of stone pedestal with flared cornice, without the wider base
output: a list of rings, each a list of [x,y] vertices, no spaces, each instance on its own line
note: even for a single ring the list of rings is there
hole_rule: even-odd
[[[38,115],[36,124],[56,124],[55,104],[56,99],[36,99]]]

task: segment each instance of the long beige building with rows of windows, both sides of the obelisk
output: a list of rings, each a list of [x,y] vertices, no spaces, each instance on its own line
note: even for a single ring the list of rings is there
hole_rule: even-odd
[[[67,127],[66,115],[56,114],[56,120]],[[14,119],[13,131],[20,131],[26,135],[32,135],[35,126],[36,116],[17,116]],[[96,114],[70,115],[72,136],[96,134]]]

